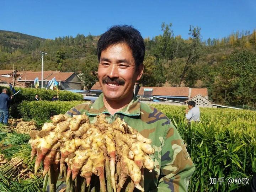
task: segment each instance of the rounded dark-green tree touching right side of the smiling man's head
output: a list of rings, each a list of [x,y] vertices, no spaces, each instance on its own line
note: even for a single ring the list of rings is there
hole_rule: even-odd
[[[152,55],[144,59],[144,71],[139,83],[143,86],[162,86],[165,83],[165,76],[161,63]]]

